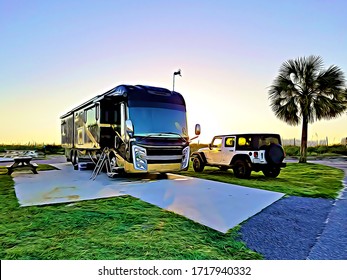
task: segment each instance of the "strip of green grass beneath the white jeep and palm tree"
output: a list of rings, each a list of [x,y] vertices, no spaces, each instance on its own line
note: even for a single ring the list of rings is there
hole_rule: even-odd
[[[262,172],[252,172],[250,179],[238,179],[233,171],[221,171],[216,167],[205,167],[201,173],[192,166],[182,175],[236,184],[251,188],[276,191],[287,195],[336,198],[342,188],[344,173],[340,169],[320,164],[287,163],[277,178],[267,178]]]

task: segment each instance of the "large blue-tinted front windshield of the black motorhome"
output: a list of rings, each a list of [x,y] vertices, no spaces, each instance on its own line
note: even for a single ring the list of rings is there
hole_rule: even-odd
[[[188,137],[185,110],[158,107],[129,107],[136,136]]]

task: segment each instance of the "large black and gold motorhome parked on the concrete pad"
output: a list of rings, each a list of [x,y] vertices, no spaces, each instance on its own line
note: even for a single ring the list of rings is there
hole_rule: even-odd
[[[186,104],[176,91],[119,85],[60,119],[62,147],[74,166],[85,160],[96,163],[107,148],[113,172],[165,173],[188,168],[191,139]],[[195,134],[200,134],[199,125]]]

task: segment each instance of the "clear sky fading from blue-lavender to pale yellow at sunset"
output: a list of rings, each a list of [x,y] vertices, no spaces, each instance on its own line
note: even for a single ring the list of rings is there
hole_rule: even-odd
[[[288,59],[319,55],[347,77],[344,0],[0,0],[0,144],[60,143],[60,116],[120,84],[175,90],[188,131],[274,132],[269,86]],[[347,113],[309,140],[347,137]]]

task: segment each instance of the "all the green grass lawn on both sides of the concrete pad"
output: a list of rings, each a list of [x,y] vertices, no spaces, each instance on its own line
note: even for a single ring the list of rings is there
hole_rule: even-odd
[[[19,207],[12,177],[1,168],[0,174],[1,259],[262,258],[240,242],[239,227],[222,234],[130,196]],[[313,197],[335,197],[343,178],[334,168],[294,163],[277,179],[252,173],[239,180],[216,168],[182,174]]]

